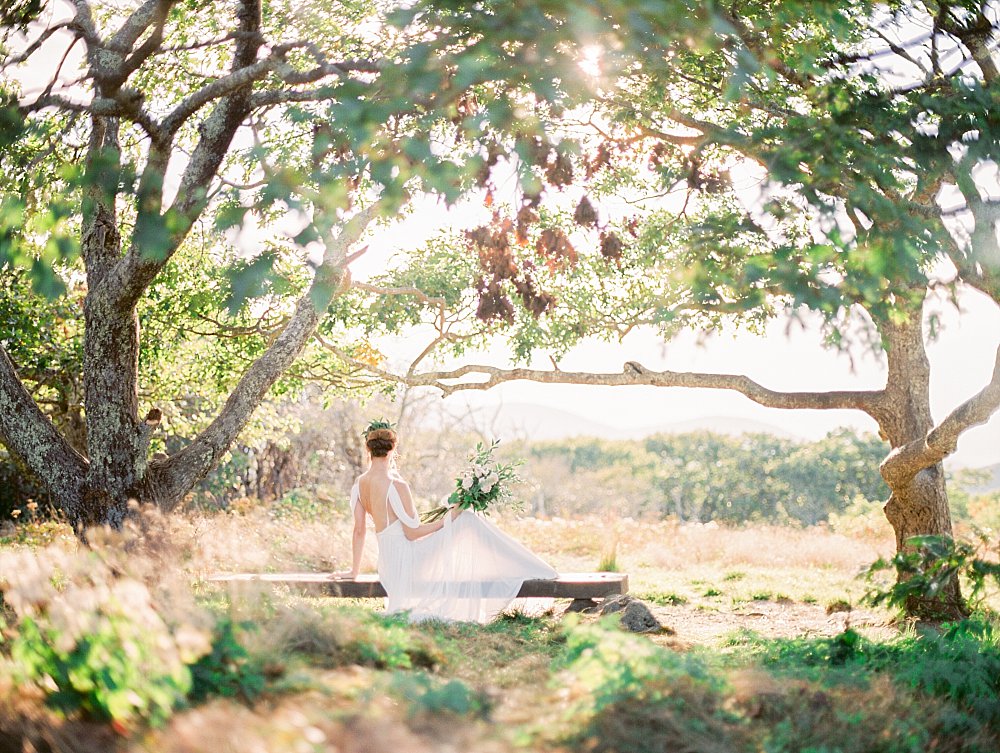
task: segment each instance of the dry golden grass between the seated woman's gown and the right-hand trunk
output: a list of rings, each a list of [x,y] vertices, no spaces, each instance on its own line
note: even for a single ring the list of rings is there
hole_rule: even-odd
[[[636,595],[711,610],[755,599],[857,603],[866,589],[859,573],[893,548],[888,523],[877,536],[597,516],[508,519],[502,527],[562,571],[596,569],[616,541],[618,569]]]

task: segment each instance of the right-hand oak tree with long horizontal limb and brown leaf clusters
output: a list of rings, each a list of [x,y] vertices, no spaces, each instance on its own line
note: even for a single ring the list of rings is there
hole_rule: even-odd
[[[1000,353],[982,390],[935,420],[925,305],[931,288],[1000,303],[995,5],[641,8],[594,9],[600,20],[580,45],[598,92],[566,111],[561,138],[519,152],[536,187],[494,187],[490,222],[444,234],[382,280],[433,302],[423,320],[399,308],[383,326],[433,325],[429,352],[506,337],[526,361],[636,327],[669,339],[812,310],[830,344],[846,348],[860,332],[883,355],[884,386],[786,392],[741,374],[636,362],[619,373],[433,370],[426,352],[383,376],[445,393],[531,379],[727,389],[773,408],[863,411],[889,444],[881,473],[898,547],[950,536],[942,461],[1000,406]],[[960,612],[958,584],[910,606]]]

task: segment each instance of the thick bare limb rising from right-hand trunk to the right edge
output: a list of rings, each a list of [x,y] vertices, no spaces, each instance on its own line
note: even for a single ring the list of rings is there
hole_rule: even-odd
[[[920,471],[951,455],[958,438],[967,429],[990,420],[1000,408],[1000,349],[997,350],[993,378],[976,395],[966,400],[934,427],[927,436],[897,447],[882,461],[880,471],[886,483],[898,488]]]

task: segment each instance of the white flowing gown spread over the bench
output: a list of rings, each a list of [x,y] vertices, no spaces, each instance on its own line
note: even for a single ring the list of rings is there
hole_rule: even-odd
[[[352,512],[360,500],[355,481]],[[557,576],[482,515],[468,510],[455,519],[445,515],[441,530],[410,541],[403,526],[416,528],[420,518],[406,512],[395,483],[389,484],[385,504],[386,520],[390,507],[396,515],[377,534],[387,612],[409,612],[411,622],[489,622],[514,600],[525,580]]]

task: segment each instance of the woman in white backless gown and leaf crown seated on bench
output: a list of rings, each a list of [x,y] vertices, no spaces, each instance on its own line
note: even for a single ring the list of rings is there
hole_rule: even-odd
[[[387,612],[426,619],[489,622],[532,578],[556,571],[484,517],[454,508],[421,523],[406,481],[393,462],[398,437],[392,429],[365,433],[371,464],[351,489],[354,514],[352,567],[361,568],[366,516],[378,538],[378,574]]]

